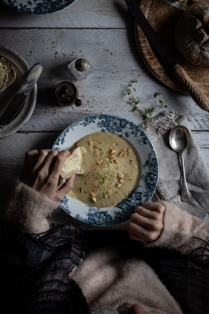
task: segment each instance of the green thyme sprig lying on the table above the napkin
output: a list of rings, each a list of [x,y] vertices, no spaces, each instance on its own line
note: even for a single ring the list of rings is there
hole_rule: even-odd
[[[145,110],[143,110],[138,106],[138,104],[139,104],[139,97],[138,96],[137,97],[129,97],[129,95],[131,94],[131,90],[134,90],[134,92],[136,92],[136,89],[134,87],[135,83],[138,83],[136,78],[134,79],[132,84],[128,84],[128,89],[126,91],[126,94],[123,94],[123,95],[126,96],[128,101],[132,103],[132,105],[134,107],[132,110],[133,112],[135,112],[136,110],[140,111],[142,113],[140,116],[143,116],[144,120],[149,120],[152,122],[152,119],[153,119],[152,114],[154,112],[157,112],[164,107],[167,108],[162,97],[160,96],[162,93],[155,93],[154,94],[154,98],[156,98],[156,97],[160,98],[159,103],[161,104],[161,107],[159,109],[155,110],[154,108],[147,107]]]

